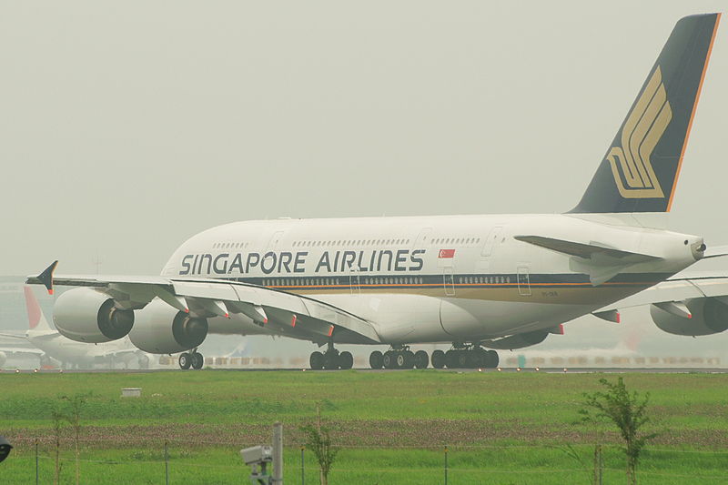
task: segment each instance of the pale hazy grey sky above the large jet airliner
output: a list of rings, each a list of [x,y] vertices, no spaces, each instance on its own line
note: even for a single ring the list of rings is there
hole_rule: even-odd
[[[273,217],[562,212],[728,2],[0,3],[0,274],[157,274]],[[728,21],[671,227],[728,244]]]

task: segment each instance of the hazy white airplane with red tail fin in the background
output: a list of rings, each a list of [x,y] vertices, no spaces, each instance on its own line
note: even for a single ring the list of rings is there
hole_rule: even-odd
[[[66,338],[48,325],[38,300],[30,287],[23,288],[25,292],[25,308],[28,312],[29,328],[22,336],[15,338],[25,339],[35,347],[34,351],[27,352],[40,359],[41,366],[60,363],[62,367],[92,368],[95,364],[105,364],[113,368],[115,363],[126,367],[136,362],[139,369],[149,367],[149,357],[129,341],[121,338],[113,342],[99,343],[89,346]],[[3,334],[7,338],[15,334]]]

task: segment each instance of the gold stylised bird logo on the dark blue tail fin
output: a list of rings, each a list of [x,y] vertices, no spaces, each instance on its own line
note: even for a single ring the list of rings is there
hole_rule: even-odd
[[[622,147],[612,147],[607,154],[622,197],[664,197],[650,157],[671,119],[672,109],[658,66],[622,126]]]

